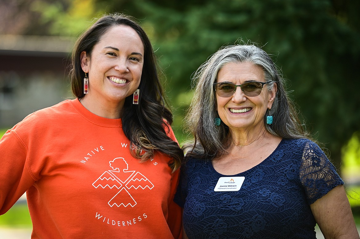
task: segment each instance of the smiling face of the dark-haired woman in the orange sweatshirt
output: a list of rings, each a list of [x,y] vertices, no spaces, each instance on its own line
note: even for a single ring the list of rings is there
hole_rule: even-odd
[[[144,45],[134,29],[110,27],[91,56],[81,52],[81,68],[89,77],[89,93],[84,100],[104,107],[115,104],[122,109],[125,98],[139,87],[143,58]]]

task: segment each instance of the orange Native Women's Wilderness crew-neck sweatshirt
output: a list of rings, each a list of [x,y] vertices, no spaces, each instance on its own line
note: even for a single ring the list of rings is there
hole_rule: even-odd
[[[160,153],[140,163],[129,147],[121,119],[78,99],[34,112],[0,141],[0,215],[26,191],[32,238],[177,238],[179,170]]]

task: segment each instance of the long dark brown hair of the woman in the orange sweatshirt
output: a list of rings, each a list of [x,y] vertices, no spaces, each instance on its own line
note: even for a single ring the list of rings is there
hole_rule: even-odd
[[[73,94],[84,97],[85,73],[81,69],[82,51],[91,58],[91,52],[100,38],[113,26],[125,25],[134,29],[144,44],[144,64],[140,80],[139,105],[132,104],[132,95],[126,97],[122,114],[122,129],[135,150],[132,155],[140,161],[147,161],[155,151],[169,155],[169,165],[175,171],[183,161],[184,153],[167,133],[172,123],[171,111],[166,107],[161,83],[157,73],[156,57],[150,40],[141,26],[125,14],[108,14],[99,18],[75,43],[71,56],[70,80]],[[141,154],[140,152],[144,152]]]

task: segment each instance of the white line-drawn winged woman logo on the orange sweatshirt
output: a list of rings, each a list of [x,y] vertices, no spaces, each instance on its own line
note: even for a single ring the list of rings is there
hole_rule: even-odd
[[[152,189],[154,185],[143,174],[129,170],[129,165],[125,161],[125,158],[114,158],[109,161],[112,170],[105,171],[96,181],[93,183],[95,188],[109,187],[110,189],[116,189],[117,193],[108,202],[110,207],[116,205],[120,207],[131,206],[134,207],[137,203],[131,196],[128,190],[134,188],[139,189]]]

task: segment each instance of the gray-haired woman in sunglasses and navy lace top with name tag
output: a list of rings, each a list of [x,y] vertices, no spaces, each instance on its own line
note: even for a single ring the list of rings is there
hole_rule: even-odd
[[[195,72],[195,142],[175,202],[184,238],[359,238],[343,181],[298,123],[265,51],[235,45]]]

